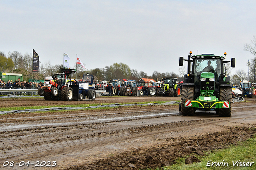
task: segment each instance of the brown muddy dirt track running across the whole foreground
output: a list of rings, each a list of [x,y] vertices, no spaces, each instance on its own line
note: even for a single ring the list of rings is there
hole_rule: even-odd
[[[160,100],[178,101],[180,98],[98,97],[95,101],[82,103]],[[223,148],[252,137],[255,134],[252,127],[256,127],[256,100],[246,100],[248,102],[232,103],[231,118],[221,118],[215,113],[184,117],[178,113],[178,105],[1,115],[0,170],[114,170],[168,166],[178,157],[191,153],[203,155],[206,150]],[[1,108],[81,104],[81,101],[44,101],[43,98],[0,101]],[[7,161],[9,164],[4,166]],[[11,161],[13,166],[10,166]],[[29,166],[20,166],[28,161]],[[56,166],[52,166],[54,161]]]

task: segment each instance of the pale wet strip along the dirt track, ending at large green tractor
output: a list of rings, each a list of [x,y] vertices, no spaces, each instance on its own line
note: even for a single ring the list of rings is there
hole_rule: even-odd
[[[10,123],[6,124],[3,123],[0,127],[0,131],[5,130],[14,130],[19,128],[34,128],[34,127],[49,127],[49,126],[69,126],[69,125],[84,125],[84,124],[93,124],[93,123],[110,123],[110,122],[116,122],[116,121],[130,121],[134,119],[139,118],[150,118],[150,117],[165,117],[168,115],[179,115],[179,113],[149,113],[149,114],[134,114],[131,116],[118,116],[117,115],[104,115],[104,116],[93,116],[93,117],[79,117],[79,118],[73,118],[72,120],[68,120],[68,122],[63,122],[63,120],[56,120],[55,123],[38,123],[38,122],[31,122],[26,124],[18,124],[15,123],[13,125],[10,125]],[[58,121],[62,121],[61,123],[57,123]],[[72,122],[70,122],[72,121]]]

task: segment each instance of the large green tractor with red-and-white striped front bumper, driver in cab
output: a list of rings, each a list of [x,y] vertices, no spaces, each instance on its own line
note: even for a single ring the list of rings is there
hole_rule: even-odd
[[[193,55],[188,59],[180,57],[179,65],[188,62],[188,73],[182,84],[180,112],[182,115],[194,115],[196,111],[215,111],[219,117],[231,117],[232,85],[226,75],[226,52],[223,56],[214,54]],[[231,59],[231,67],[235,67]],[[192,65],[192,69],[190,69]]]

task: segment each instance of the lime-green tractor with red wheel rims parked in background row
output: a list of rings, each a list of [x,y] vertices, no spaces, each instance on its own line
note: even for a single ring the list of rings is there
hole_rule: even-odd
[[[177,78],[162,78],[160,87],[156,88],[156,96],[180,97],[181,87]]]

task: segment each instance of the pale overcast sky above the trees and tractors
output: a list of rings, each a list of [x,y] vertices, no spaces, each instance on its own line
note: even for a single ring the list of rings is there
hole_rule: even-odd
[[[125,63],[130,69],[179,73],[179,57],[213,53],[236,58],[256,35],[255,0],[0,0],[0,51],[32,53],[86,69]],[[198,51],[198,52],[197,52]],[[186,62],[185,62],[185,65]]]

